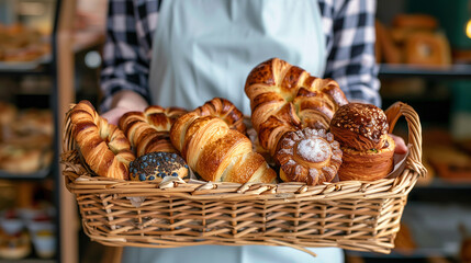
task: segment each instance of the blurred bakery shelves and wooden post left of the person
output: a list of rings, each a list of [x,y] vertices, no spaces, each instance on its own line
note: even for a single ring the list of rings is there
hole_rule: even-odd
[[[59,108],[99,100],[106,4],[0,0],[0,262],[105,262],[80,229],[55,149]]]

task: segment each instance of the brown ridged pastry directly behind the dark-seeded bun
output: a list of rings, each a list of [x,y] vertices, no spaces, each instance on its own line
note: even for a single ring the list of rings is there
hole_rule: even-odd
[[[155,151],[177,152],[171,145],[169,130],[184,113],[187,111],[180,107],[153,105],[144,112],[125,113],[120,118],[119,126],[135,148],[137,157]]]

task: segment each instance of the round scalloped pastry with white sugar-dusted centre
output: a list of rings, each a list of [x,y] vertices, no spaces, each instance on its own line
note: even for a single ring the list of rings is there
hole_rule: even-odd
[[[304,128],[283,136],[274,159],[284,182],[330,182],[341,163],[340,145],[325,129]]]

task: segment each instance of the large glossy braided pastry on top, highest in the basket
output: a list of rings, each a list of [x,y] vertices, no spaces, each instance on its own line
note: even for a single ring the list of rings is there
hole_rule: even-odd
[[[310,76],[279,58],[251,70],[245,93],[260,145],[272,156],[285,133],[304,127],[328,129],[335,111],[348,103],[336,81]]]

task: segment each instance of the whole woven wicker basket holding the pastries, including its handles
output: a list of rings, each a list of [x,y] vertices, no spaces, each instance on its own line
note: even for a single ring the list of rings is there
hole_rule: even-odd
[[[412,145],[395,179],[236,184],[200,181],[131,182],[92,176],[75,148],[66,117],[66,187],[75,194],[83,231],[105,245],[176,248],[199,244],[338,247],[390,253],[407,195],[420,175],[418,115],[397,102],[386,111],[392,132],[400,116]],[[136,201],[143,201],[136,204]]]

